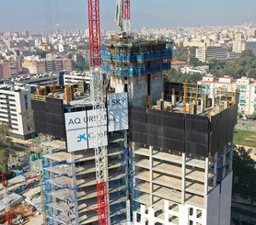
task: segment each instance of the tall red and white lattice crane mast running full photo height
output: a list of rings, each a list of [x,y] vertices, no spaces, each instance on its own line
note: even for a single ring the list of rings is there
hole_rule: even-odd
[[[109,208],[106,182],[106,152],[107,148],[102,144],[103,137],[99,135],[102,125],[102,115],[105,111],[103,96],[103,77],[101,72],[101,43],[100,43],[100,20],[99,0],[88,0],[88,25],[90,40],[90,95],[92,107],[95,113],[95,163],[97,179],[97,200],[99,225],[109,224]]]

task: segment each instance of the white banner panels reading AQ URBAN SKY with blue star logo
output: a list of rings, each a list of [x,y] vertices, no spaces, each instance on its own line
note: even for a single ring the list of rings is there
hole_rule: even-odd
[[[127,93],[108,95],[107,110],[99,109],[65,113],[66,143],[68,152],[95,148],[96,123],[98,122],[99,145],[108,145],[108,131],[128,129],[128,96]],[[97,118],[99,117],[99,119]]]

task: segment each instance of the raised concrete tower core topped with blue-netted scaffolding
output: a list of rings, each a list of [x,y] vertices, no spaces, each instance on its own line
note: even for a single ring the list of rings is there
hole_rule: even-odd
[[[132,107],[157,103],[171,56],[169,42],[164,40],[113,37],[102,44],[102,68],[109,87],[117,93],[128,92]]]

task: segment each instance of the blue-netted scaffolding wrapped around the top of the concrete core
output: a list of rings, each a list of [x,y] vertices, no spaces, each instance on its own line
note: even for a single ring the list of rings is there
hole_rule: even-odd
[[[113,79],[170,69],[172,51],[163,40],[111,39],[102,46],[102,68]]]

